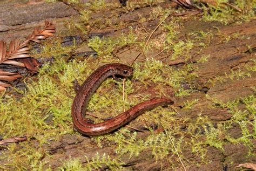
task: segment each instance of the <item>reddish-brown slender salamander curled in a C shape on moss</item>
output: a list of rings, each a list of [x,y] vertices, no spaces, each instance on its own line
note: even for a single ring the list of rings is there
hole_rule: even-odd
[[[100,84],[110,76],[114,77],[115,75],[119,75],[123,77],[130,77],[132,74],[133,69],[130,66],[124,64],[107,64],[99,67],[84,81],[76,94],[71,108],[73,124],[79,133],[84,135],[100,135],[109,133],[120,126],[123,126],[145,111],[149,111],[157,106],[173,104],[173,101],[170,99],[155,98],[133,106],[129,110],[119,114],[117,117],[102,123],[88,123],[87,119],[84,118],[86,106],[91,99],[92,94],[95,93]]]

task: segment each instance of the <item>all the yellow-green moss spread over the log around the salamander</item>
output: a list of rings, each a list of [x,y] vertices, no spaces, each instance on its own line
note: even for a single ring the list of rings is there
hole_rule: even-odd
[[[70,1],[71,2],[71,1]],[[126,8],[121,11],[130,11],[147,4],[154,5],[160,1],[129,1]],[[247,4],[238,3],[239,8],[245,9],[245,17],[238,18],[244,21],[246,17],[250,17],[250,10]],[[111,13],[106,19],[92,19],[92,13],[110,10],[111,4],[105,1],[91,1],[86,5],[88,10],[79,11],[79,23],[74,20],[69,21],[70,32],[79,29],[82,33],[89,33],[90,29],[105,28],[111,25],[111,17],[116,17],[118,12]],[[116,4],[119,6],[120,4]],[[220,4],[219,4],[220,5]],[[223,18],[224,23],[230,23],[230,18],[225,18],[233,14],[231,9],[225,8],[217,10],[213,7],[213,16],[204,16],[206,20],[219,20]],[[149,18],[141,18],[140,22],[148,22],[150,20],[163,18],[171,13],[170,9],[154,8]],[[225,12],[226,11],[226,12]],[[235,13],[238,15],[238,13]],[[207,18],[208,17],[208,18]],[[148,59],[144,62],[134,63],[134,75],[125,81],[124,99],[123,99],[123,81],[107,79],[99,87],[89,102],[88,111],[97,115],[95,122],[102,122],[102,119],[113,117],[124,110],[138,104],[139,102],[148,100],[152,97],[168,97],[173,98],[173,94],[177,98],[186,98],[192,92],[198,90],[197,75],[194,71],[197,68],[194,64],[186,63],[190,59],[189,52],[193,47],[207,47],[213,37],[213,32],[193,32],[188,34],[190,38],[180,40],[179,35],[182,24],[181,19],[169,18],[164,22],[150,39],[146,47],[147,52],[154,50],[164,50],[171,54],[172,60],[185,58],[185,64],[182,66],[169,66],[158,60]],[[232,18],[231,18],[232,19]],[[159,22],[156,22],[159,23]],[[122,26],[118,23],[115,27]],[[73,30],[71,29],[73,28]],[[148,28],[146,28],[148,29]],[[149,30],[153,30],[149,28]],[[73,132],[70,107],[75,97],[72,81],[76,78],[81,84],[85,78],[104,63],[120,62],[115,57],[118,50],[127,47],[132,50],[141,51],[145,46],[145,38],[149,35],[144,30],[134,30],[130,28],[129,33],[124,35],[116,35],[116,37],[95,37],[88,40],[89,46],[98,54],[97,58],[88,57],[83,59],[73,59],[68,61],[73,50],[77,49],[77,44],[73,46],[62,47],[60,39],[53,40],[52,43],[46,42],[40,54],[35,57],[53,57],[55,60],[51,64],[45,64],[36,77],[26,80],[28,90],[14,90],[21,94],[22,97],[15,95],[1,94],[0,104],[0,135],[3,138],[11,138],[14,136],[26,135],[35,139],[38,146],[29,140],[17,144],[11,144],[8,149],[0,156],[1,160],[6,161],[4,169],[35,169],[43,170],[48,163],[42,162],[44,155],[49,155],[42,147],[45,143],[58,140],[64,134],[77,134]],[[219,33],[220,42],[228,42],[235,38],[240,38],[239,34],[222,35]],[[248,46],[248,50],[251,47]],[[145,54],[147,56],[147,54]],[[202,56],[198,62],[207,62],[210,56]],[[255,60],[251,60],[245,65],[245,69],[231,71],[222,77],[211,79],[209,83],[216,81],[236,81],[246,77],[251,77],[251,73],[255,71]],[[184,85],[189,85],[184,86]],[[255,91],[255,87],[252,90]],[[253,153],[252,140],[256,136],[255,123],[255,95],[240,98],[234,101],[223,102],[213,99],[206,95],[210,102],[210,108],[223,108],[228,110],[232,118],[227,121],[213,122],[203,113],[198,113],[198,117],[190,119],[180,117],[180,114],[171,107],[157,107],[152,111],[145,112],[130,124],[137,122],[145,122],[145,128],[149,130],[149,135],[140,138],[139,133],[129,131],[123,127],[119,132],[96,136],[92,138],[99,148],[103,145],[114,147],[116,158],[110,158],[108,155],[96,154],[94,158],[82,163],[80,159],[70,159],[63,161],[60,170],[93,170],[107,167],[111,170],[122,169],[124,163],[120,160],[123,157],[136,157],[143,152],[150,152],[149,155],[156,162],[170,163],[170,168],[177,169],[180,164],[177,153],[185,166],[197,165],[201,162],[210,162],[207,159],[207,148],[213,147],[224,152],[224,145],[228,143],[241,143],[248,147],[249,154]],[[198,99],[184,101],[184,107],[181,112],[190,112],[197,108]],[[200,104],[199,104],[200,105]],[[242,107],[241,107],[242,106]],[[202,111],[203,112],[203,111]],[[235,126],[241,132],[240,136],[232,136],[230,130]],[[237,128],[235,127],[235,128]],[[157,129],[158,128],[158,129]],[[186,129],[184,129],[186,128]],[[157,129],[157,131],[156,131]],[[174,149],[172,142],[176,149]],[[201,161],[186,159],[184,152],[193,153],[201,158]],[[97,152],[96,152],[97,153]],[[186,154],[186,153],[185,153]],[[50,155],[49,155],[50,157]],[[2,169],[2,168],[1,168]]]

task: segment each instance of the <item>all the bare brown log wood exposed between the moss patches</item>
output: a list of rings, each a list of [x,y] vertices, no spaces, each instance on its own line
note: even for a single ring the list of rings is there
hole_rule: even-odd
[[[86,2],[86,1],[85,1]],[[110,1],[113,2],[113,1]],[[118,2],[118,1],[114,1]],[[119,13],[118,17],[111,18],[112,24],[124,23],[119,29],[106,27],[103,29],[100,28],[90,28],[89,37],[118,37],[123,33],[129,33],[129,28],[141,29],[145,28],[147,31],[151,32],[159,24],[159,20],[146,20],[143,23],[139,22],[139,19],[144,17],[150,17],[150,12],[152,9],[161,6],[161,8],[166,9],[175,4],[170,3],[169,1],[161,2],[157,5],[145,5],[142,8],[134,9],[126,13]],[[121,8],[121,7],[119,7]],[[119,9],[110,9],[107,11],[102,11],[100,13],[95,13],[91,15],[91,19],[104,19],[109,13],[114,10]],[[72,18],[77,20],[79,12],[74,9],[74,6],[69,6],[63,2],[57,3],[46,3],[43,1],[2,1],[0,2],[0,40],[5,40],[7,43],[12,39],[28,36],[28,33],[31,33],[35,26],[43,24],[44,19],[52,19],[56,24],[57,34],[56,36],[62,37],[63,46],[73,45],[73,40],[75,39],[77,44],[83,42],[81,35],[69,35],[69,30],[65,27],[66,20]],[[18,17],[17,17],[18,16]],[[140,18],[139,18],[140,17]],[[170,18],[166,19],[166,23],[171,22]],[[178,36],[180,39],[187,37],[191,32],[212,32],[213,36],[210,41],[207,42],[207,46],[204,48],[193,47],[189,52],[188,56],[191,58],[187,60],[186,57],[177,57],[176,59],[170,59],[168,56],[169,52],[162,52],[156,56],[161,50],[150,51],[146,53],[147,57],[154,57],[154,59],[163,61],[164,64],[167,64],[172,67],[180,68],[187,63],[193,64],[194,68],[197,70],[192,71],[197,75],[197,78],[194,80],[196,87],[194,91],[187,96],[175,97],[173,95],[173,100],[175,101],[173,107],[176,108],[179,115],[177,117],[187,117],[189,121],[194,121],[197,119],[198,114],[206,116],[215,126],[221,122],[230,120],[232,114],[229,112],[228,107],[208,107],[212,105],[207,97],[211,99],[217,99],[219,101],[228,102],[236,100],[238,98],[248,97],[251,94],[255,94],[255,90],[252,87],[256,85],[256,73],[251,72],[250,77],[241,77],[241,78],[231,78],[229,77],[232,73],[245,71],[245,66],[250,67],[255,65],[256,52],[252,47],[256,47],[256,20],[251,19],[248,22],[242,22],[241,24],[230,24],[224,25],[220,22],[205,22],[198,20],[197,17],[184,17],[180,22],[183,22],[183,27],[179,31]],[[214,29],[218,28],[218,29]],[[231,40],[224,40],[221,36],[216,36],[221,33],[221,35],[230,36],[238,33],[239,36],[232,38]],[[64,36],[63,36],[64,35]],[[156,38],[160,35],[160,31],[154,33],[152,37]],[[71,37],[72,36],[72,37]],[[84,35],[85,36],[85,35]],[[241,37],[243,37],[241,39]],[[146,40],[145,40],[146,41]],[[34,44],[33,44],[34,45]],[[248,49],[248,47],[252,49]],[[40,51],[40,46],[34,45],[33,49]],[[201,49],[201,50],[200,50]],[[200,51],[200,53],[199,53]],[[138,54],[138,49],[132,47],[123,47],[120,50],[117,50],[115,56],[120,59],[120,63],[131,64],[134,57]],[[75,59],[76,57],[86,58],[87,56],[97,56],[91,47],[83,44],[77,48],[71,54],[71,58]],[[198,60],[202,56],[210,55],[207,58],[207,61],[199,63]],[[48,58],[48,60],[50,60]],[[145,55],[140,56],[137,61],[144,61]],[[41,64],[44,64],[44,59],[39,59]],[[54,62],[54,61],[53,61]],[[9,71],[9,72],[19,72],[23,76],[26,76],[28,71],[16,66],[1,65],[0,68]],[[36,77],[31,76],[31,77]],[[220,78],[224,81],[219,81]],[[214,84],[209,83],[209,80],[212,80]],[[21,85],[19,81],[16,81],[14,85]],[[186,85],[184,87],[190,87],[191,85]],[[25,87],[23,87],[25,88]],[[146,91],[152,91],[151,94],[154,94],[154,87],[148,87]],[[22,89],[22,88],[21,88]],[[29,90],[28,90],[29,91]],[[143,90],[141,90],[143,92]],[[193,101],[198,99],[197,103],[192,107],[187,109],[185,107],[186,101]],[[255,106],[254,106],[255,107]],[[241,104],[239,108],[243,109],[244,106]],[[254,118],[255,119],[255,118]],[[255,121],[254,121],[255,123]],[[144,129],[144,132],[137,132],[137,139],[144,139],[149,134],[150,131],[145,129],[145,124],[142,122],[132,122],[132,127],[138,129]],[[129,128],[130,129],[130,128]],[[160,129],[160,128],[159,128]],[[248,130],[252,133],[255,129],[255,125],[248,126]],[[132,132],[133,129],[130,129]],[[186,125],[181,130],[183,132],[188,131]],[[230,135],[233,137],[240,137],[242,132],[239,125],[233,125],[230,129]],[[203,132],[202,132],[203,134]],[[0,137],[1,138],[1,137]],[[184,140],[189,140],[189,137],[185,137]],[[49,140],[48,143],[43,144],[42,146],[38,144],[37,140],[30,139],[31,145],[35,149],[40,149],[45,152],[45,156],[42,156],[41,161],[47,163],[43,168],[46,169],[51,166],[52,169],[57,169],[62,166],[62,162],[69,159],[80,158],[82,165],[86,165],[88,160],[90,161],[96,154],[109,155],[111,158],[117,158],[115,152],[115,146],[113,144],[104,144],[101,148],[98,147],[95,141],[92,141],[91,138],[85,137],[79,134],[66,134],[63,135],[57,141]],[[224,140],[225,141],[225,140]],[[256,146],[256,140],[251,139],[254,147]],[[185,143],[185,142],[183,142]],[[19,146],[19,144],[17,144]],[[200,162],[200,156],[194,155],[190,150],[182,149],[182,155],[186,160],[193,160],[194,162],[199,162],[200,166],[197,165],[188,165],[186,166],[189,170],[223,170],[227,168],[228,170],[234,170],[235,166],[238,166],[240,163],[256,163],[256,158],[254,155],[248,156],[248,148],[242,144],[235,144],[225,142],[223,145],[223,150],[208,146],[207,149],[207,159],[210,162]],[[0,155],[8,154],[6,148],[0,149]],[[169,154],[170,156],[176,154]],[[87,156],[87,159],[84,158]],[[179,163],[178,158],[177,161]],[[124,167],[127,170],[169,170],[170,161],[161,161],[156,162],[156,159],[152,155],[152,149],[146,149],[138,156],[132,156],[130,154],[124,154],[122,158]],[[6,164],[9,161],[0,160],[0,165],[7,166]],[[5,167],[5,168],[8,168]],[[13,169],[13,168],[11,168]],[[101,169],[108,169],[107,166],[102,166]],[[177,169],[182,170],[183,167],[179,165]]]

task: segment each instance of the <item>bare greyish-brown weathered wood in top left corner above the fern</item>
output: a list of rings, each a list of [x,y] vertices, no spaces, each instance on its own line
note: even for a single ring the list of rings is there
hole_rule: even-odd
[[[43,25],[45,19],[56,18],[54,20],[59,27],[65,17],[76,14],[76,10],[62,2],[49,4],[41,1],[25,4],[16,1],[0,5],[0,40],[10,42],[12,39],[27,37],[33,28]]]

